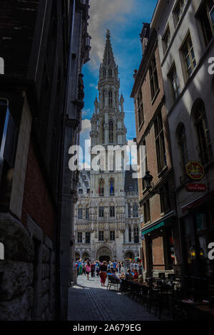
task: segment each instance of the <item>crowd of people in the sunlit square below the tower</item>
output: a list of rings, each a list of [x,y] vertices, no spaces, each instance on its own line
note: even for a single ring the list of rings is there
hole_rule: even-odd
[[[89,280],[91,278],[100,277],[101,286],[106,287],[106,278],[111,277],[116,282],[121,283],[121,279],[137,280],[142,276],[143,268],[141,261],[128,260],[126,262],[117,262],[115,259],[110,262],[91,262],[86,259],[85,262],[79,259],[76,261],[77,276],[85,275]]]

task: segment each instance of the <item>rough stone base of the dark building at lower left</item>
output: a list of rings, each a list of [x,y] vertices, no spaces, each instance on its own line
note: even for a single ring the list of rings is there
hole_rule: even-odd
[[[49,237],[30,218],[25,228],[9,213],[1,213],[0,242],[4,244],[4,259],[0,262],[0,319],[54,319],[56,263]]]

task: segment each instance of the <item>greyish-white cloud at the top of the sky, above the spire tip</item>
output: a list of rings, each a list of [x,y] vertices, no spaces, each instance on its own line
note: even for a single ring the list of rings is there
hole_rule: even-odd
[[[90,20],[88,31],[91,35],[91,66],[98,68],[103,58],[104,33],[110,31],[123,21],[126,21],[126,14],[131,13],[136,0],[91,0]],[[108,5],[106,5],[108,4]]]

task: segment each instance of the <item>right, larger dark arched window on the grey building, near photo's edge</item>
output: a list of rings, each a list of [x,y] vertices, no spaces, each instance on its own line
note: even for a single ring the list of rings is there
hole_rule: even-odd
[[[195,120],[195,128],[198,135],[199,156],[202,164],[208,163],[213,158],[212,145],[210,140],[210,131],[208,120],[205,113],[205,105],[202,100],[198,100],[194,109],[193,115]]]

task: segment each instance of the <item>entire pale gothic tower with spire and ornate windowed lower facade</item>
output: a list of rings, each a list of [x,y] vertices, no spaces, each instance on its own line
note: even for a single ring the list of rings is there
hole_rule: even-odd
[[[107,31],[98,98],[91,118],[91,163],[97,157],[97,146],[105,148],[105,155],[98,169],[92,166],[89,175],[84,171],[80,174],[75,225],[77,259],[122,261],[138,256],[138,181],[124,169],[123,150],[121,155],[120,150],[111,150],[127,143],[124,99],[119,90],[118,66]]]

